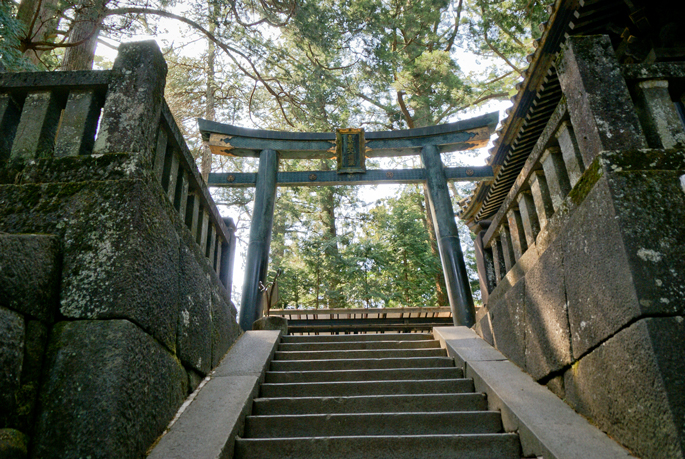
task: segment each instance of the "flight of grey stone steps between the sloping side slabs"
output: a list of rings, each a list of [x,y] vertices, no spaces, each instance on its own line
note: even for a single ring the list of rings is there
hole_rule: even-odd
[[[429,334],[283,336],[237,459],[520,458]]]

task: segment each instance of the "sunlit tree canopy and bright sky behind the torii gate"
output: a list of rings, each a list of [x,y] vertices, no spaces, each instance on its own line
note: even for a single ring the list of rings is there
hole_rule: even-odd
[[[161,43],[166,97],[206,177],[256,162],[211,158],[196,117],[291,131],[396,130],[507,100],[545,15],[539,0],[4,0],[0,59],[11,71],[88,69],[98,42],[177,30]],[[419,166],[416,158],[392,164]],[[455,204],[467,192],[452,186]],[[251,193],[215,193],[243,230]],[[271,266],[283,271],[282,306],[446,304],[425,189],[368,196],[354,187],[279,189]],[[460,231],[477,296],[471,235]]]

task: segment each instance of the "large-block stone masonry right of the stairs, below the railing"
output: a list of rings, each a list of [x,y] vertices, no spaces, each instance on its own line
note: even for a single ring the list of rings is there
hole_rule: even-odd
[[[487,304],[504,355],[643,458],[685,457],[683,170],[597,155]]]

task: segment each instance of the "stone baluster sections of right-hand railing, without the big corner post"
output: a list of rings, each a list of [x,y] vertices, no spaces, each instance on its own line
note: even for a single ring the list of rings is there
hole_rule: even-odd
[[[644,147],[685,145],[685,63],[624,65],[622,77],[646,138]],[[529,247],[544,250],[552,239],[548,221],[560,209],[565,211],[569,195],[582,192],[574,189],[592,158],[583,155],[574,127],[564,96],[500,210],[481,233],[477,244],[486,295]]]

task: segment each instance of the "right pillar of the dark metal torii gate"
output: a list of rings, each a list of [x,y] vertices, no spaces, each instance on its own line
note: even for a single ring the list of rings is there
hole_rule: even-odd
[[[476,322],[476,311],[473,307],[473,297],[469,286],[464,255],[459,244],[457,223],[454,220],[454,210],[447,189],[440,152],[435,145],[427,145],[421,149],[421,161],[426,168],[426,182],[430,197],[430,210],[435,222],[436,239],[445,274],[447,296],[450,300],[454,325],[471,327]]]

